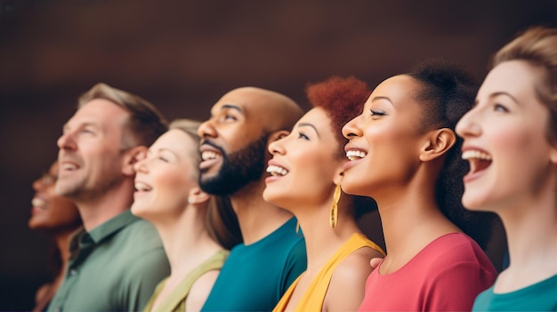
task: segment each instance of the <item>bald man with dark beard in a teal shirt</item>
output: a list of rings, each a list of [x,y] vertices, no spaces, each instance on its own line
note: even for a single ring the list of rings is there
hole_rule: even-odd
[[[202,310],[270,311],[305,270],[305,243],[295,218],[262,198],[267,147],[302,115],[283,94],[242,87],[224,94],[199,126],[199,185],[209,194],[230,196],[244,238],[231,250]]]

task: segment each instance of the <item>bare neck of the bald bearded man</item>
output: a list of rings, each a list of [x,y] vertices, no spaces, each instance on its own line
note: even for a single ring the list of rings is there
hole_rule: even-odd
[[[263,200],[264,185],[251,183],[230,196],[244,244],[253,244],[280,228],[292,213]]]

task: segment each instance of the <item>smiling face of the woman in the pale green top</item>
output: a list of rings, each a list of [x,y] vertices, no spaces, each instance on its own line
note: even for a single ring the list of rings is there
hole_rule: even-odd
[[[198,186],[197,153],[198,142],[186,132],[172,129],[161,135],[134,164],[133,214],[154,223],[179,216],[190,189]]]

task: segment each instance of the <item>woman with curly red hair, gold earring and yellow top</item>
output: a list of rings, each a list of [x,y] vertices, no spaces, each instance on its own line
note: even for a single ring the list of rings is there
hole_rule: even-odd
[[[308,85],[306,93],[313,108],[269,146],[263,198],[295,214],[308,257],[307,270],[274,311],[353,311],[364,298],[369,260],[384,255],[356,222],[363,206],[373,209],[375,202],[340,188],[347,142],[341,129],[359,115],[370,91],[354,77],[333,76]]]

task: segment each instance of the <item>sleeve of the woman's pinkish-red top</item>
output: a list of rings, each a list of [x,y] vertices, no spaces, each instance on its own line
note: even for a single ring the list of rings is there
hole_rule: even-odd
[[[495,276],[474,262],[448,266],[432,278],[424,310],[470,311],[480,292],[494,283]]]

